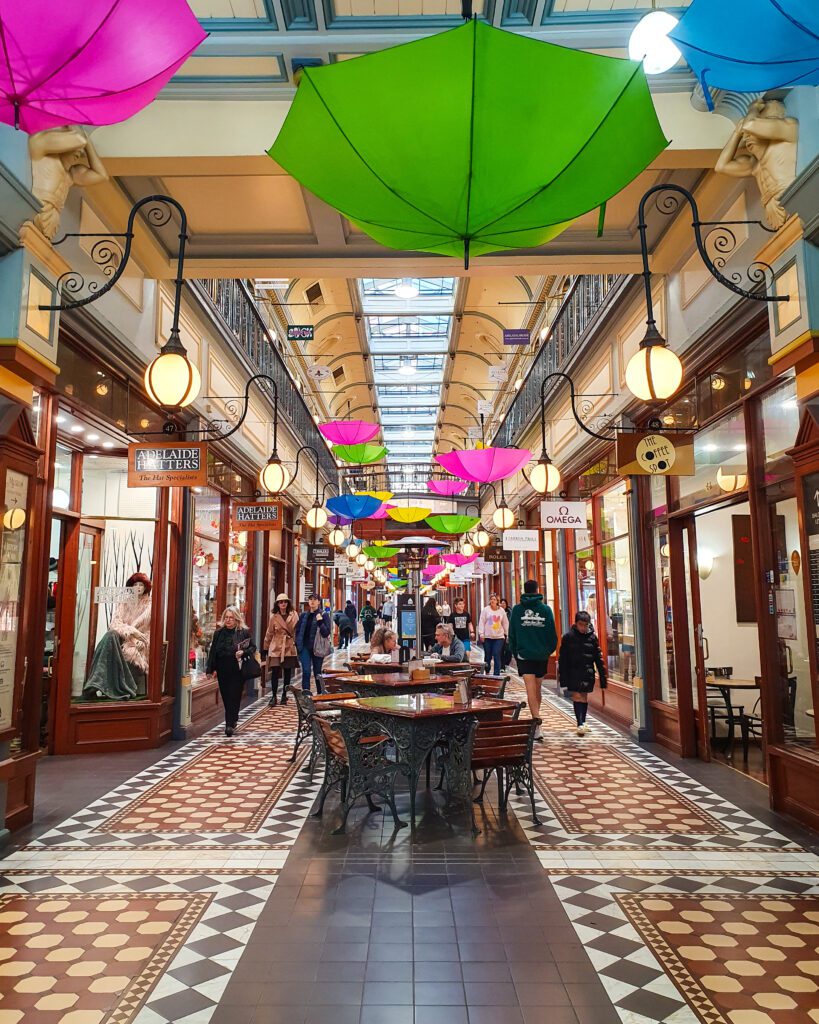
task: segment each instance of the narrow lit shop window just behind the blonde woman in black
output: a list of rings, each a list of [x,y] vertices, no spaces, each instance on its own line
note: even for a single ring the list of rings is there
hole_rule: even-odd
[[[203,487],[193,494],[192,585],[190,590],[190,653],[192,681],[205,678],[211,640],[222,610],[218,607],[222,497]]]

